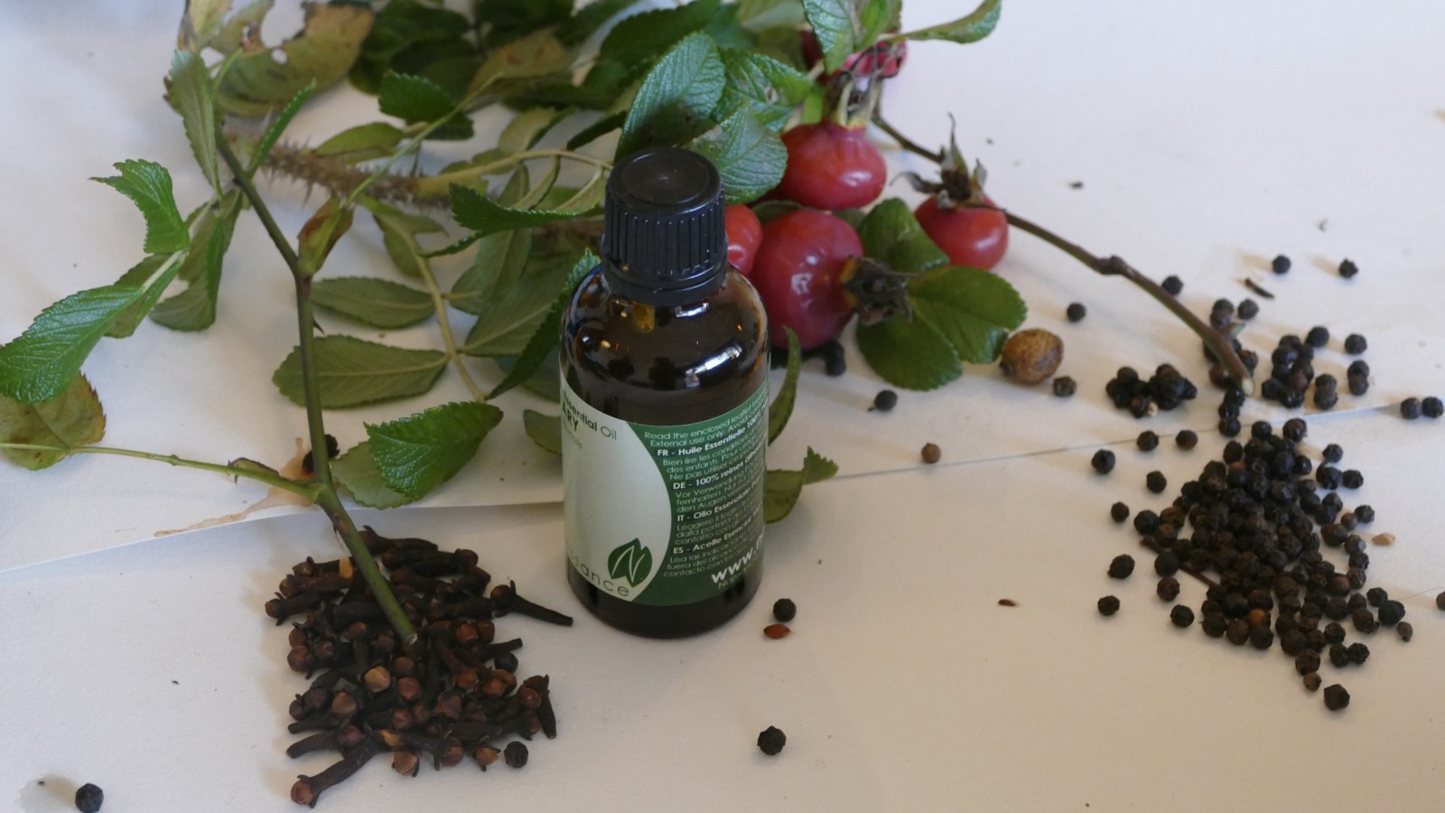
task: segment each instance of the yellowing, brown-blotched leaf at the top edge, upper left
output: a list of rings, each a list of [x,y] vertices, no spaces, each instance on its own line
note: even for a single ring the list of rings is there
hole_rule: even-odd
[[[257,10],[253,25],[259,25],[270,3],[257,3],[253,9]],[[270,48],[244,48],[244,55],[221,77],[217,104],[240,116],[262,116],[295,98],[309,82],[315,82],[316,90],[331,87],[351,69],[373,19],[366,6],[306,3],[303,29],[282,43],[280,59]],[[247,30],[246,25],[233,29],[231,23],[217,38],[223,52],[241,48]]]

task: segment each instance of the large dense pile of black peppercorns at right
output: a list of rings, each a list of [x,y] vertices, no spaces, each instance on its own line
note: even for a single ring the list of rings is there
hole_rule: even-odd
[[[1243,393],[1234,391],[1225,401],[1243,402]],[[1300,448],[1306,433],[1299,418],[1286,421],[1277,434],[1270,424],[1254,422],[1248,440],[1231,440],[1222,459],[1211,460],[1179,488],[1170,506],[1157,514],[1140,511],[1133,525],[1142,534],[1140,544],[1155,551],[1162,600],[1178,597],[1175,576],[1181,570],[1205,580],[1209,586],[1198,608],[1205,635],[1259,650],[1277,644],[1295,658],[1305,687],[1315,691],[1322,684],[1322,660],[1347,668],[1370,657],[1364,642],[1347,644],[1347,623],[1357,635],[1393,626],[1403,641],[1413,628],[1405,621],[1403,603],[1381,587],[1366,590],[1370,554],[1354,531],[1374,521],[1374,509],[1358,505],[1345,511],[1335,490],[1358,488],[1363,474],[1335,466],[1344,457],[1337,444],[1319,453],[1316,467]],[[1123,522],[1129,508],[1116,503],[1110,514]],[[1329,548],[1342,551],[1345,567],[1327,558]],[[1131,571],[1127,554],[1108,567],[1114,579]],[[1118,602],[1107,599],[1100,612],[1113,615]],[[1195,612],[1176,605],[1170,621],[1192,626]],[[1348,705],[1348,693],[1334,684],[1325,689],[1325,700],[1338,710]]]

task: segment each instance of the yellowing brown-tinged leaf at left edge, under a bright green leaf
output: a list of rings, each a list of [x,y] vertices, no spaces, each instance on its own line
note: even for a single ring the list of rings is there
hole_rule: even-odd
[[[561,427],[559,427],[561,430]],[[30,470],[64,460],[66,450],[100,443],[105,437],[105,411],[85,376],[77,375],[58,396],[22,404],[0,395],[0,443],[49,446],[58,451],[7,448],[6,456]]]

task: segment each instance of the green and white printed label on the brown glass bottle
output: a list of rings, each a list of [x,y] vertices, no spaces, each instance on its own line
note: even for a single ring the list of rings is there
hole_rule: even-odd
[[[562,382],[566,558],[610,596],[688,605],[762,556],[767,388],[696,424],[614,418]]]

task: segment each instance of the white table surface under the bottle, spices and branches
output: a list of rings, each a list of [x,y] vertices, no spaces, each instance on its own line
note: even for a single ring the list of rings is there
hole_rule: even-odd
[[[906,6],[912,27],[955,4]],[[0,124],[9,171],[0,340],[139,259],[139,216],[88,176],[150,158],[175,172],[182,207],[201,194],[159,98],[176,16],[160,1],[0,7],[0,98],[10,106]],[[1368,638],[1366,665],[1324,668],[1327,683],[1350,689],[1348,710],[1327,712],[1277,650],[1233,648],[1168,623],[1146,576],[1150,558],[1107,509],[1116,499],[1159,508],[1166,501],[1143,488],[1147,470],[1179,483],[1217,454],[1217,395],[1198,341],[1143,294],[1016,234],[1000,273],[1029,301],[1030,325],[1065,337],[1062,372],[1079,380],[1079,395],[1061,401],[971,369],[877,415],[864,408],[880,383],[861,360],[842,379],[811,367],[802,420],[770,463],[795,466],[814,446],[842,476],[809,488],[769,528],[759,600],[717,632],[643,641],[574,603],[556,464],[520,433],[520,408],[540,405],[525,393],[503,402],[509,418],[478,461],[422,508],[360,511],[383,532],[478,550],[493,574],[577,612],[578,623],[499,621],[500,635],[526,641],[522,674],[552,676],[561,719],[561,736],[539,739],[525,770],[460,767],[410,780],[379,761],[321,804],[1439,806],[1445,616],[1433,596],[1445,589],[1445,553],[1432,479],[1445,427],[1402,421],[1393,405],[1445,392],[1442,30],[1445,7],[1426,1],[1013,3],[983,43],[912,46],[887,103],[890,119],[929,143],[946,136],[952,111],[964,149],[990,168],[996,200],[1157,278],[1179,275],[1183,299],[1201,311],[1218,297],[1243,298],[1244,276],[1263,282],[1279,298],[1261,301],[1244,340],[1266,354],[1282,333],[1328,324],[1334,349],[1316,367],[1341,375],[1340,339],[1368,336],[1370,395],[1309,415],[1306,446],[1340,443],[1364,472],[1347,505],[1368,502],[1379,516],[1370,531],[1397,537],[1371,550],[1370,583],[1406,603],[1416,635],[1402,644],[1383,631]],[[368,120],[371,104],[331,94],[296,132],[324,137]],[[897,153],[890,163],[922,169]],[[916,200],[902,187],[893,188]],[[302,192],[267,191],[299,226]],[[357,243],[332,263],[380,268],[374,242]],[[107,406],[108,444],[205,459],[293,451],[302,415],[269,383],[290,346],[289,281],[249,216],[237,246],[208,334],[146,325],[92,356],[87,373]],[[1285,278],[1264,271],[1276,253],[1295,259]],[[1361,268],[1348,282],[1332,272],[1345,256]],[[1088,320],[1062,318],[1071,301],[1088,304]],[[1165,360],[1201,385],[1199,401],[1143,422],[1108,406],[1103,382],[1114,367]],[[441,388],[425,404],[462,395],[455,376]],[[345,444],[361,437],[361,421],[422,405],[344,412],[331,425]],[[1260,402],[1244,412],[1285,417]],[[1182,453],[1166,440],[1140,453],[1131,438],[1146,427],[1166,438],[1191,427],[1201,444]],[[916,463],[925,441],[944,447],[944,463]],[[1088,457],[1105,444],[1118,467],[1097,477]],[[0,466],[0,648],[12,658],[0,671],[9,723],[0,809],[68,810],[87,781],[105,788],[110,813],[293,809],[290,781],[329,759],[283,754],[285,707],[305,683],[286,670],[285,628],[260,605],[292,563],[335,556],[324,518],[292,511],[156,538],[262,496],[142,461],[82,457],[43,473]],[[1118,553],[1140,558],[1124,583],[1104,576]],[[1105,593],[1124,603],[1113,619],[1094,610]],[[762,626],[779,596],[795,599],[799,615],[792,637],[769,641]],[[1019,606],[998,606],[1003,597]],[[1185,582],[1182,600],[1201,597]],[[789,735],[773,759],[753,745],[769,725]]]

